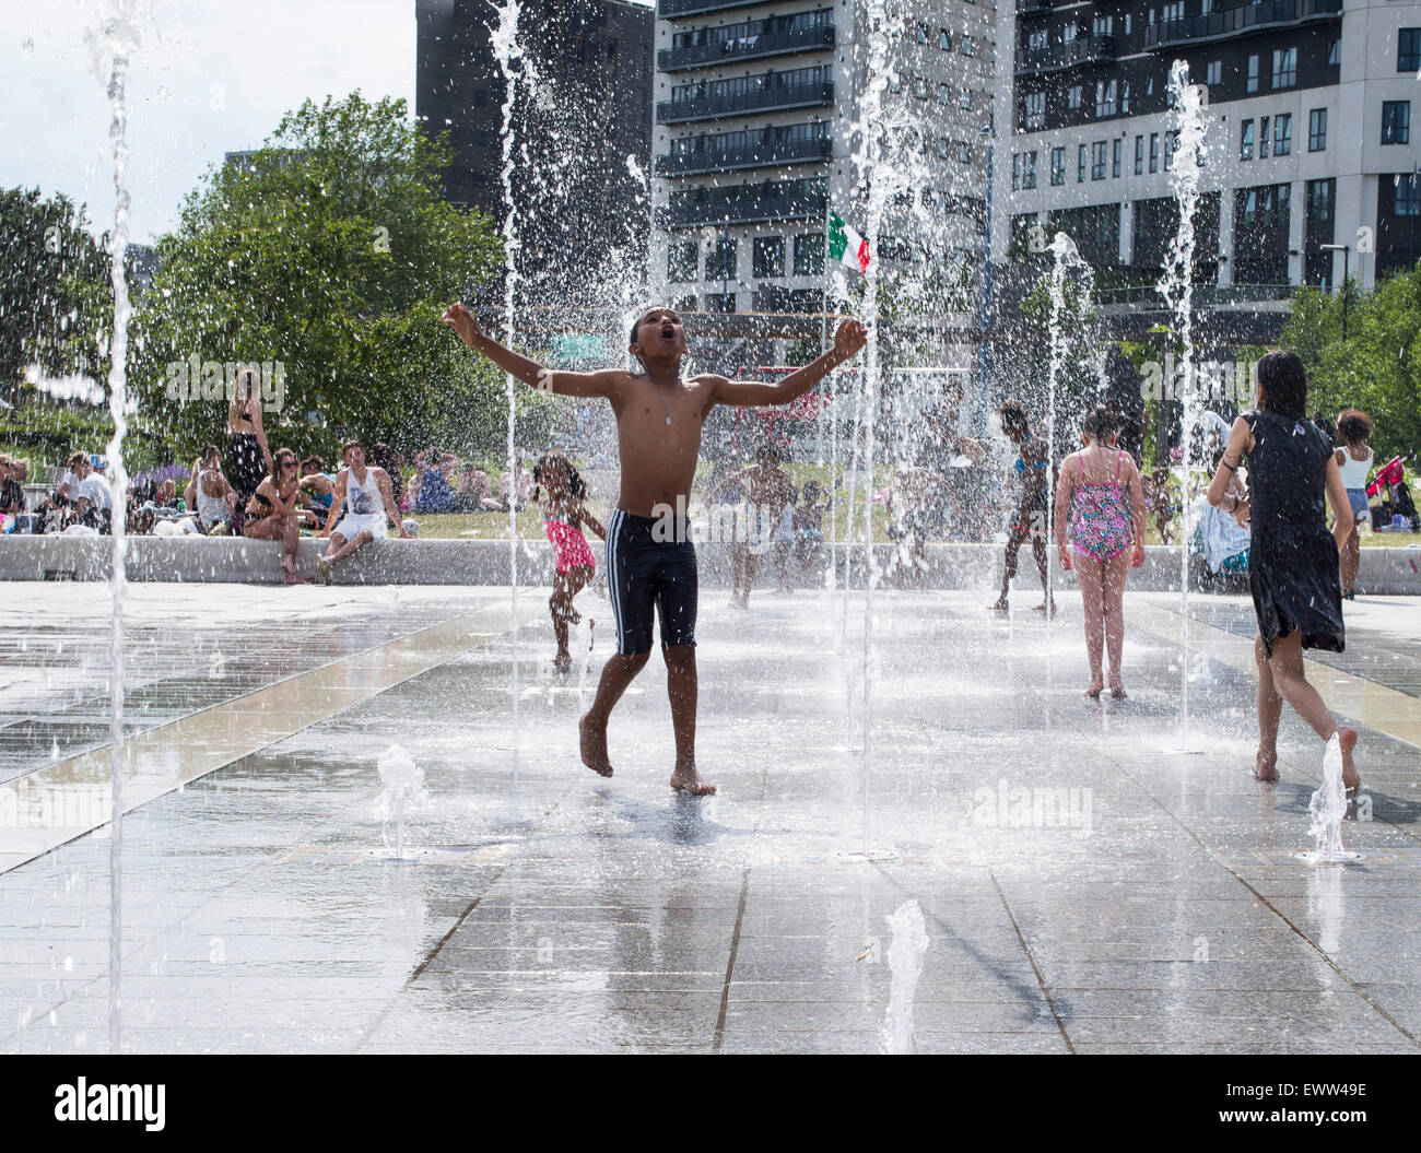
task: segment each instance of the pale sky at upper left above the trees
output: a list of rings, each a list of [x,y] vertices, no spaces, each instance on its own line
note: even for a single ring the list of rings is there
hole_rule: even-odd
[[[85,30],[98,0],[9,0],[0,24],[0,186],[38,185],[114,219],[108,106]],[[131,239],[172,227],[225,152],[307,97],[415,99],[414,0],[151,0],[129,85]]]

